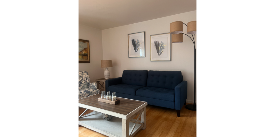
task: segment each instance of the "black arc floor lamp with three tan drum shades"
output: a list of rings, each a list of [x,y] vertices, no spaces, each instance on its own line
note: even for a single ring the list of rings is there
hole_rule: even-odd
[[[172,43],[182,43],[183,42],[183,22],[182,21],[175,21],[170,23],[170,33],[172,34]],[[197,105],[196,105],[196,34],[197,34],[197,21],[190,21],[186,24],[184,24],[185,26],[187,26],[187,34],[191,34],[193,37],[193,40],[191,39],[191,37],[187,34],[187,35],[194,44],[194,104],[188,104],[185,105],[185,108],[192,110],[192,111],[197,111]]]

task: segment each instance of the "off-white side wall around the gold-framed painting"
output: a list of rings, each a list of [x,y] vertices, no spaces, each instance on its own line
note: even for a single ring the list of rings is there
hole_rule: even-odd
[[[100,68],[103,60],[101,30],[78,24],[78,39],[90,42],[90,63],[78,63],[78,71],[87,71],[91,82],[104,78],[103,68]]]

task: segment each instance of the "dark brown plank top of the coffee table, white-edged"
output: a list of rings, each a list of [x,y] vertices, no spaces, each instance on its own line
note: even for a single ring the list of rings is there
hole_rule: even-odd
[[[117,99],[119,99],[119,103],[116,105],[113,105],[105,102],[99,102],[98,101],[99,97],[101,97],[101,94],[84,97],[79,99],[78,103],[107,110],[107,111],[112,111],[122,115],[128,115],[130,112],[134,111],[135,109],[137,109],[138,107],[142,106],[145,103],[147,105],[147,102],[131,100],[131,99],[126,99],[121,97],[117,97]]]

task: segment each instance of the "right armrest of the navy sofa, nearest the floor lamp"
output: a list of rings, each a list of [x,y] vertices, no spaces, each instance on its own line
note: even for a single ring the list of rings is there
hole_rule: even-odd
[[[187,81],[182,81],[175,87],[175,110],[181,110],[187,99]]]

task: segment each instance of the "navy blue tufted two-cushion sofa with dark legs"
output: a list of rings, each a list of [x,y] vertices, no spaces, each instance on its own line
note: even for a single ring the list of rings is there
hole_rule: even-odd
[[[178,117],[186,104],[187,81],[181,71],[124,70],[122,77],[105,81],[106,92],[175,109]]]

